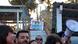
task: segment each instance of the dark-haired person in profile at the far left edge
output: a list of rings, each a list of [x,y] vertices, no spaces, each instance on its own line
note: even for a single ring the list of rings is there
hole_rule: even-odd
[[[14,44],[14,32],[10,26],[0,25],[0,44]]]

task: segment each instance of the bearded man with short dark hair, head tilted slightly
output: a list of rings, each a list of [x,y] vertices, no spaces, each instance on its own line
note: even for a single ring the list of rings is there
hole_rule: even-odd
[[[26,30],[20,30],[16,34],[16,44],[29,44],[29,32]]]

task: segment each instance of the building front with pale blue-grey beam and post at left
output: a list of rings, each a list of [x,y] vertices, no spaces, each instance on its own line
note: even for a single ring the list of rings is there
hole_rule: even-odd
[[[11,26],[14,31],[22,29],[24,10],[22,5],[0,6],[0,23]]]

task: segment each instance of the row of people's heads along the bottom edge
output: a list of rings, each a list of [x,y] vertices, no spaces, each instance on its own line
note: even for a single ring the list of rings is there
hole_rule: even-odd
[[[58,34],[48,35],[44,44],[67,44]],[[16,34],[7,25],[0,25],[0,44],[43,44],[43,38],[38,35],[35,40],[30,39],[30,33],[20,30]]]

